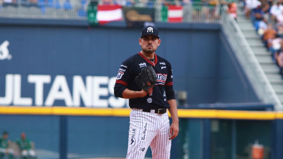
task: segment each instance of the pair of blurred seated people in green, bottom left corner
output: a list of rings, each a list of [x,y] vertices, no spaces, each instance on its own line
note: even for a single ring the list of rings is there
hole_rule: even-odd
[[[15,148],[15,146],[17,148]],[[19,152],[17,152],[19,149]],[[35,159],[36,153],[34,151],[33,143],[26,138],[24,132],[21,133],[20,138],[17,140],[9,140],[9,133],[4,131],[0,137],[0,159],[4,159],[5,156],[9,159],[14,159],[16,156],[20,156],[21,159]]]

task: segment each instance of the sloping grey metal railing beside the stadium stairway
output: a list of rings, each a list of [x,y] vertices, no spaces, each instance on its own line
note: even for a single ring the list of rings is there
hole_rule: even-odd
[[[221,23],[224,29],[224,34],[228,37],[233,52],[243,66],[243,70],[249,78],[259,99],[264,103],[274,104],[275,110],[282,111],[282,103],[267,79],[236,21],[229,14],[222,14]]]

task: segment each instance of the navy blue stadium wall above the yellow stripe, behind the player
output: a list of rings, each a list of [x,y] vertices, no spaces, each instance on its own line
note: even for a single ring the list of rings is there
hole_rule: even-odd
[[[44,22],[2,19],[0,43],[9,42],[11,58],[0,62],[0,105],[125,107],[112,88],[121,62],[141,50],[140,29]],[[259,102],[219,24],[157,27],[156,53],[171,62],[187,104]]]

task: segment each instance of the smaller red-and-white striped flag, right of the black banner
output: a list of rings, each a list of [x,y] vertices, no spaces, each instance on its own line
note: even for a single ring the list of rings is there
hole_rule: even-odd
[[[168,22],[182,22],[182,21],[183,21],[183,7],[169,5]]]

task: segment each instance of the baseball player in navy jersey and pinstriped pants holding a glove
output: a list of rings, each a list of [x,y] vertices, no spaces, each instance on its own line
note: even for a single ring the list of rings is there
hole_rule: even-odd
[[[179,132],[171,64],[155,54],[160,42],[156,27],[144,27],[139,39],[141,52],[122,62],[116,78],[114,95],[129,99],[132,108],[127,159],[143,159],[149,146],[152,158],[169,159],[171,140]]]

